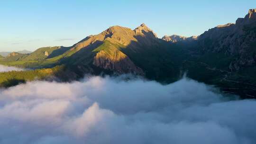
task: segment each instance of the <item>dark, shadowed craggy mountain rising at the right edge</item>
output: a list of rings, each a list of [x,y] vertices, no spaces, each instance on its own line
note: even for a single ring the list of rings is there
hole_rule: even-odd
[[[256,9],[245,18],[205,31],[186,45],[190,57],[183,69],[192,79],[217,85],[246,97],[256,97]],[[181,42],[178,45],[184,45]]]

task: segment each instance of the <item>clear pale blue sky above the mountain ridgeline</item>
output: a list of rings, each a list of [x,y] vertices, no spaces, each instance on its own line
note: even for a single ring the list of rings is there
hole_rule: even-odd
[[[0,51],[70,46],[115,25],[200,35],[253,8],[256,0],[0,0]]]

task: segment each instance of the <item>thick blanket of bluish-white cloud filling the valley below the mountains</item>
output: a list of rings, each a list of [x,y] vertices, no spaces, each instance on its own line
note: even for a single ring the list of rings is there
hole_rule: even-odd
[[[0,144],[255,144],[256,101],[183,79],[91,77],[0,90]]]

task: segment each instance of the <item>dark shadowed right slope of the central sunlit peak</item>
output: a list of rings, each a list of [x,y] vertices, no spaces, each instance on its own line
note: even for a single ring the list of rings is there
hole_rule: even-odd
[[[155,38],[153,32],[142,30],[145,36],[135,36],[137,41],[120,50],[145,72],[146,78],[163,83],[177,81],[180,78],[179,55],[177,49],[162,39]]]

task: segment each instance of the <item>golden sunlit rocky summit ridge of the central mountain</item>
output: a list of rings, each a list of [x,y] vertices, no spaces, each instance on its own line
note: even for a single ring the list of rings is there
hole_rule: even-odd
[[[155,33],[145,24],[141,24],[134,30],[127,27],[113,26],[98,35],[87,36],[82,41],[75,44],[70,51],[79,51],[89,45],[105,40],[108,40],[111,43],[124,45],[134,52],[139,51],[139,49],[142,48],[141,45],[146,45],[144,47],[151,47],[152,45],[157,45],[159,42]]]

